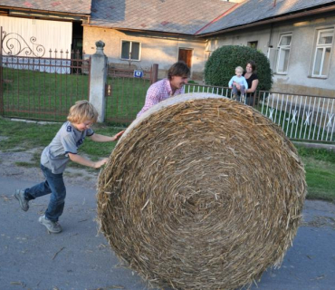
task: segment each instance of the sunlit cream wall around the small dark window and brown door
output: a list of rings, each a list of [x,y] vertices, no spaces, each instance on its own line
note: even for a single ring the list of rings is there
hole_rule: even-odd
[[[159,79],[166,77],[168,68],[177,62],[179,48],[192,49],[191,78],[202,80],[206,61],[205,40],[194,39],[192,36],[182,38],[84,26],[83,51],[85,54],[95,53],[95,43],[99,40],[106,44],[104,53],[108,56],[110,65],[149,70],[153,63],[158,63]],[[122,40],[141,43],[139,61],[129,62],[120,59]]]

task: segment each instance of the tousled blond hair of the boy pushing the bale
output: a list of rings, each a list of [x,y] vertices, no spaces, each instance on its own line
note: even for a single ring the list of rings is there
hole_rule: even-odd
[[[95,123],[98,120],[99,113],[91,104],[86,100],[75,102],[70,108],[68,121],[72,123],[81,123],[83,121],[91,121]]]

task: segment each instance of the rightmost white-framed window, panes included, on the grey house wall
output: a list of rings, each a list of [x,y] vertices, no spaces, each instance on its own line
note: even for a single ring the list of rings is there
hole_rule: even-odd
[[[330,68],[333,35],[334,29],[324,29],[318,32],[311,76],[327,77]]]

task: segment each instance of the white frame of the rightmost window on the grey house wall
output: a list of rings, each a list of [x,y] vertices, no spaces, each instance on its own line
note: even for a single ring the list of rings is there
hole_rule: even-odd
[[[332,31],[331,43],[329,43],[329,44],[319,44],[321,33],[327,32],[327,31]],[[331,54],[332,54],[332,49],[333,49],[333,45],[334,45],[334,38],[335,38],[334,33],[335,33],[335,28],[334,27],[323,27],[323,28],[319,28],[319,29],[316,30],[316,37],[315,37],[316,40],[314,41],[314,52],[312,53],[312,61],[311,61],[311,77],[312,78],[326,79],[329,76]],[[314,74],[315,64],[316,64],[316,60],[317,60],[317,52],[320,48],[322,48],[320,73],[319,74]],[[330,62],[328,64],[328,67],[325,68],[325,67],[323,67],[323,65],[324,65],[324,59],[325,59],[325,51],[326,51],[327,48],[330,48]],[[325,69],[327,70],[326,74],[321,74]]]

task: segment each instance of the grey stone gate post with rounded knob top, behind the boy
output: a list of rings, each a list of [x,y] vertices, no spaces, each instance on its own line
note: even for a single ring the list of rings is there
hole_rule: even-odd
[[[103,122],[106,109],[105,83],[108,71],[108,58],[105,53],[103,53],[105,43],[99,41],[96,42],[95,45],[97,51],[91,55],[90,102],[99,112],[98,122]]]

